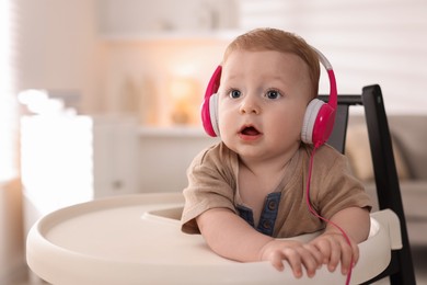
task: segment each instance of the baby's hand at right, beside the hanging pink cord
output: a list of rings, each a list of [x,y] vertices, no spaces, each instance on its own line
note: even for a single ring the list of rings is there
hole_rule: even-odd
[[[327,264],[330,272],[335,271],[341,262],[341,272],[346,275],[350,266],[359,259],[359,248],[351,241],[351,246],[341,232],[326,231],[310,242],[323,256],[323,264]],[[353,260],[351,260],[353,256]]]

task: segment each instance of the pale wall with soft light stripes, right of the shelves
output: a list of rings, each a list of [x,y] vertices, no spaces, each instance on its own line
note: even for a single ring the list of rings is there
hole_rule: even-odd
[[[427,114],[426,1],[239,2],[242,29],[278,26],[325,53],[339,92],[359,93],[362,86],[379,83],[389,113]]]

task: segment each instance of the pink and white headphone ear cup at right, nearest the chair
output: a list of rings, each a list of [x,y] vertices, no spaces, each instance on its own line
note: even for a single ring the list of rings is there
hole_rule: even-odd
[[[322,100],[314,99],[307,106],[301,139],[319,147],[326,142],[335,122],[335,110]]]

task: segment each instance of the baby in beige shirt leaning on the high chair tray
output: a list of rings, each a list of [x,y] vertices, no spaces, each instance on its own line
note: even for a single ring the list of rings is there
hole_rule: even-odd
[[[343,155],[301,138],[319,61],[314,48],[280,30],[254,30],[228,46],[208,110],[207,129],[221,141],[188,168],[182,216],[182,230],[201,233],[217,254],[269,261],[279,271],[287,262],[296,277],[303,269],[312,277],[323,264],[347,274],[357,262],[370,229],[369,196]],[[320,230],[310,242],[282,239]]]

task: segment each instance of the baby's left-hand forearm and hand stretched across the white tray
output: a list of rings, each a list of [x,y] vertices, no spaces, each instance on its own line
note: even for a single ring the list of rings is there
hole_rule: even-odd
[[[214,208],[197,217],[197,225],[209,247],[219,255],[250,262],[270,261],[279,271],[286,260],[296,277],[302,276],[302,266],[308,276],[314,276],[324,260],[312,244],[298,241],[276,240],[259,233],[245,220],[227,208]]]

